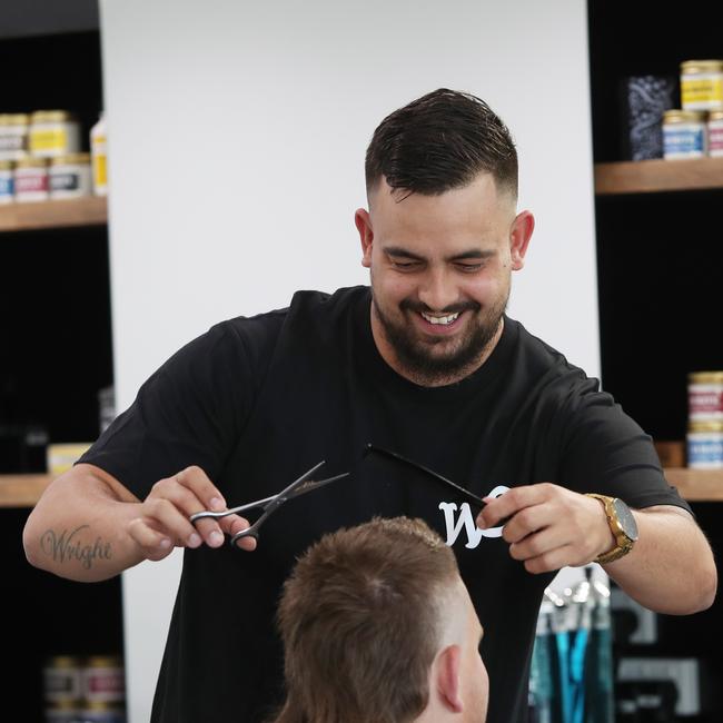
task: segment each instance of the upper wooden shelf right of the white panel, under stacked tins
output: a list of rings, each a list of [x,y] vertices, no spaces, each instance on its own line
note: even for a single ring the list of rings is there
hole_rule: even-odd
[[[595,164],[595,194],[652,194],[723,188],[723,158]]]

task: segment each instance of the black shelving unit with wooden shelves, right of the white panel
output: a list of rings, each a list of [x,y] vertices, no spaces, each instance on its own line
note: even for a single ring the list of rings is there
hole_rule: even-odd
[[[587,8],[603,386],[656,442],[680,445],[687,375],[723,368],[723,159],[625,160],[621,90],[631,76],[676,78],[683,60],[720,58],[723,12],[703,0],[696,12],[706,21],[692,26],[653,2],[588,0]],[[720,561],[723,473],[679,467],[666,477]],[[723,679],[710,645],[723,630],[720,598],[696,615],[656,615],[654,644],[626,642],[624,626],[616,644],[621,656],[700,661],[703,711],[691,723],[723,720],[723,691],[706,685]]]

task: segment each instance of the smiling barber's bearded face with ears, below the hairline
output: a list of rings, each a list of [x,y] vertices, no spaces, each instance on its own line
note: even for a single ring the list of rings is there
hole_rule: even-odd
[[[511,273],[522,268],[532,217],[515,217],[514,199],[498,192],[489,174],[439,196],[393,194],[383,179],[369,202],[356,224],[379,353],[417,384],[464,378],[502,331]]]

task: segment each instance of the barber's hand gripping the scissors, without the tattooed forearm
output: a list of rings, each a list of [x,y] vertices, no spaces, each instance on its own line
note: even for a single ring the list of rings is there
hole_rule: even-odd
[[[128,522],[128,534],[147,559],[162,559],[174,547],[220,547],[224,533],[235,535],[249,526],[239,515],[190,522],[191,515],[205,509],[222,512],[226,501],[200,467],[187,467],[153,485],[138,508],[139,515]],[[255,549],[256,539],[242,537],[238,546]]]

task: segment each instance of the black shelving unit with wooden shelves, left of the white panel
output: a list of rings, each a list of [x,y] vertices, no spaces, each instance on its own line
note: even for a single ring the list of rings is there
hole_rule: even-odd
[[[75,110],[88,148],[102,108],[95,0],[1,4],[0,65],[12,69],[0,112]],[[0,617],[23,631],[6,666],[3,720],[44,722],[48,656],[123,650],[120,578],[80,584],[28,564],[22,528],[50,478],[16,446],[26,425],[50,443],[98,435],[98,390],[112,384],[107,221],[105,198],[0,206]]]

